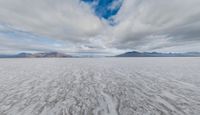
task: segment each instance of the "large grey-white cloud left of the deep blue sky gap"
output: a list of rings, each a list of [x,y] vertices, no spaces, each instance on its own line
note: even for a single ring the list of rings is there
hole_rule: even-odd
[[[72,41],[94,36],[104,26],[78,0],[0,0],[0,17],[20,30]]]

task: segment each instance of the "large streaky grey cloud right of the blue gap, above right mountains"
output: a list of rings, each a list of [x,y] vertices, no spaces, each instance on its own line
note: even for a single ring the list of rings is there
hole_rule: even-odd
[[[113,45],[142,51],[174,47],[169,52],[190,47],[200,42],[199,5],[199,0],[126,0],[115,17]]]

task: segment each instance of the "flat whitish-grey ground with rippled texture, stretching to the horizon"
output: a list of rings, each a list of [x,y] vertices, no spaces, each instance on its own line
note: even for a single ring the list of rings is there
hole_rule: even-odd
[[[0,59],[0,115],[199,115],[200,58]]]

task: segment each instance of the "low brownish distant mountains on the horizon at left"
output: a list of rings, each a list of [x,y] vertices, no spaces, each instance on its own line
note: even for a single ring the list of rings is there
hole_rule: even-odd
[[[71,55],[67,55],[59,52],[48,53],[19,53],[15,55],[0,55],[0,58],[69,58]]]

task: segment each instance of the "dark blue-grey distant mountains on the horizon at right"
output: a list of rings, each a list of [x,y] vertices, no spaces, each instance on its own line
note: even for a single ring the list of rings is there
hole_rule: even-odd
[[[200,57],[199,52],[159,53],[159,52],[126,52],[115,57]]]

